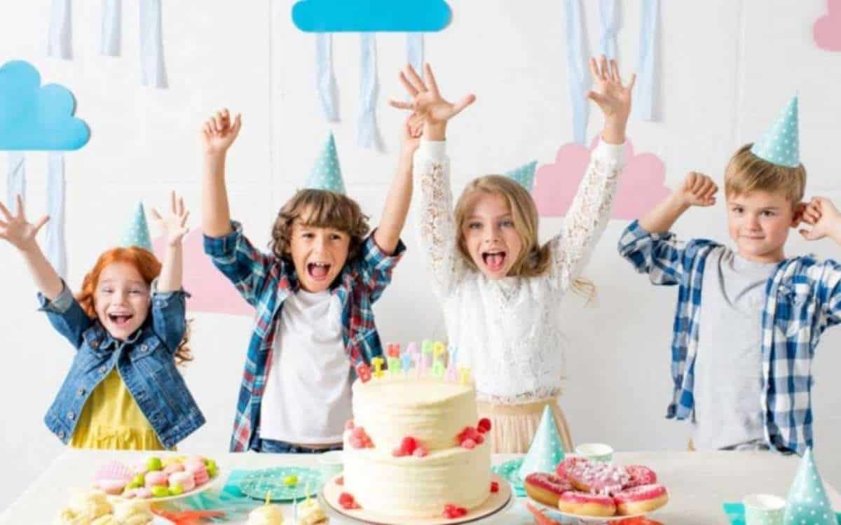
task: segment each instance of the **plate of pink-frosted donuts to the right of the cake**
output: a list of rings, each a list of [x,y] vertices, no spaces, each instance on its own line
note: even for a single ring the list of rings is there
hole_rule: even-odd
[[[571,457],[554,474],[526,476],[526,495],[542,507],[581,522],[612,522],[645,516],[669,501],[669,491],[643,465],[616,465]]]

